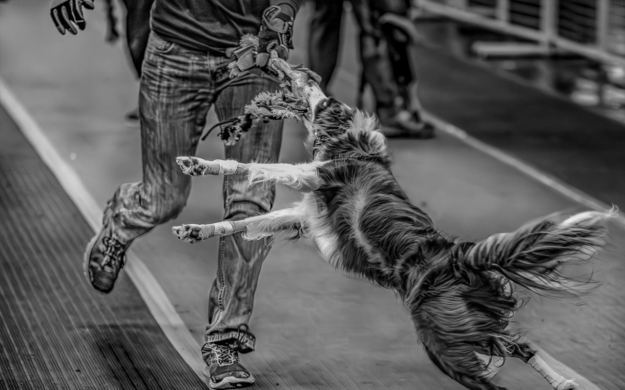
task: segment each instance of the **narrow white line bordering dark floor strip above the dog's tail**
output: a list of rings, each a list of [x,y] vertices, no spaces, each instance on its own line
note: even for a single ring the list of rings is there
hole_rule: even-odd
[[[591,195],[588,195],[587,193],[584,193],[581,190],[572,187],[571,185],[567,185],[566,183],[561,182],[561,180],[558,180],[557,178],[552,177],[551,175],[548,175],[547,173],[542,172],[541,170],[538,170],[537,168],[534,168],[525,162],[522,162],[518,158],[512,157],[511,155],[502,152],[502,150],[499,150],[496,147],[485,144],[484,142],[474,137],[471,137],[471,135],[467,134],[467,132],[465,132],[464,130],[461,130],[456,126],[445,122],[436,115],[433,115],[429,112],[423,112],[423,118],[434,124],[434,127],[436,127],[437,129],[441,129],[444,132],[453,135],[454,137],[461,140],[465,144],[473,147],[474,149],[477,149],[484,154],[496,158],[496,160],[499,160],[502,163],[506,163],[507,165],[521,171],[527,176],[533,178],[534,180],[537,180],[538,182],[546,185],[549,188],[552,188],[556,192],[564,195],[565,197],[574,200],[581,205],[584,205],[585,207],[592,208],[593,210],[601,212],[605,212],[612,208],[611,205],[607,205],[606,203],[597,200]],[[617,215],[616,220],[625,225],[625,216],[623,216],[622,214]]]

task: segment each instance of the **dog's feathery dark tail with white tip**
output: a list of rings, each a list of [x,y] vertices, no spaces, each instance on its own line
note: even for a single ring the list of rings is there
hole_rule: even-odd
[[[511,233],[489,236],[467,248],[458,266],[496,271],[514,283],[546,296],[579,295],[587,291],[584,281],[564,275],[562,263],[586,262],[606,242],[609,212],[583,212],[556,223],[541,219]]]

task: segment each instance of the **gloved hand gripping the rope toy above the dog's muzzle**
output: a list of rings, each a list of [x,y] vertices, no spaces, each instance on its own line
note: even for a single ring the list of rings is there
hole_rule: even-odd
[[[276,51],[281,59],[288,59],[289,49],[293,48],[293,16],[283,12],[279,6],[265,9],[258,40],[257,66],[267,66],[271,50]]]

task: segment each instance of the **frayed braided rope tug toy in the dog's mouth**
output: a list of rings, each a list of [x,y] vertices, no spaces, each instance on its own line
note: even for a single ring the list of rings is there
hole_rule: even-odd
[[[234,78],[256,67],[258,54],[258,37],[246,34],[241,38],[239,46],[232,51],[232,61],[228,65],[230,77]],[[234,145],[242,135],[260,122],[277,119],[306,120],[311,117],[310,105],[307,101],[306,85],[308,80],[320,82],[321,78],[315,72],[301,65],[291,65],[279,58],[275,51],[269,53],[269,61],[263,69],[268,74],[277,77],[282,83],[282,90],[276,92],[261,92],[250,104],[245,106],[244,114],[236,118],[223,120],[213,125],[202,136],[202,140],[211,131],[221,125],[221,139],[226,145]]]

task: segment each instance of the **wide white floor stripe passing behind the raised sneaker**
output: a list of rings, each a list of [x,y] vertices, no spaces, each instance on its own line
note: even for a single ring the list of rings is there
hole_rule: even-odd
[[[76,204],[94,232],[99,232],[103,210],[98,207],[96,200],[84,187],[78,174],[56,152],[39,125],[19,103],[2,77],[0,77],[0,104],[7,110],[17,127],[37,150],[37,154],[54,173],[54,176],[59,180],[65,192]],[[132,250],[129,251],[128,257],[124,270],[133,281],[141,298],[148,305],[150,313],[184,361],[201,378],[202,382],[208,384],[206,376],[202,373],[205,364],[199,354],[199,344],[191,336],[189,329],[169,301],[163,287],[154,278],[141,258]]]

